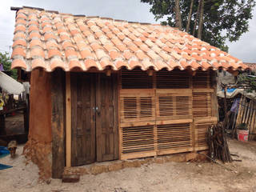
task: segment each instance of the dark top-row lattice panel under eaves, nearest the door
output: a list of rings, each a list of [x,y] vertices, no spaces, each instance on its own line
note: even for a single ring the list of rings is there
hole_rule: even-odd
[[[153,76],[143,70],[122,70],[122,89],[150,89],[153,88]]]

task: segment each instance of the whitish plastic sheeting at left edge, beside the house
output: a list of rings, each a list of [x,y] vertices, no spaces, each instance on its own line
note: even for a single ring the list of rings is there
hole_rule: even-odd
[[[14,78],[4,74],[2,71],[0,71],[0,87],[8,94],[22,94],[25,90],[22,83],[17,82]]]

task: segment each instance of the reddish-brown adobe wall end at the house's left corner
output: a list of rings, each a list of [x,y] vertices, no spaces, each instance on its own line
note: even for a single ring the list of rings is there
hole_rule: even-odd
[[[28,160],[38,165],[40,178],[51,177],[52,162],[50,73],[33,70],[30,78],[30,132],[24,147]]]

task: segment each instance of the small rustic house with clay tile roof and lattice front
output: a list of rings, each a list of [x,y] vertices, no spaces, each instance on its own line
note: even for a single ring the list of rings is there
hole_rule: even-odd
[[[65,166],[206,150],[215,70],[238,58],[170,26],[15,8],[12,68],[31,73],[26,154]]]

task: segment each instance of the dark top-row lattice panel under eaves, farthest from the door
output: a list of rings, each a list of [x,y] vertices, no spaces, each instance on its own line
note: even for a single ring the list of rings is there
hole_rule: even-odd
[[[210,72],[197,70],[192,78],[193,88],[210,88]]]

